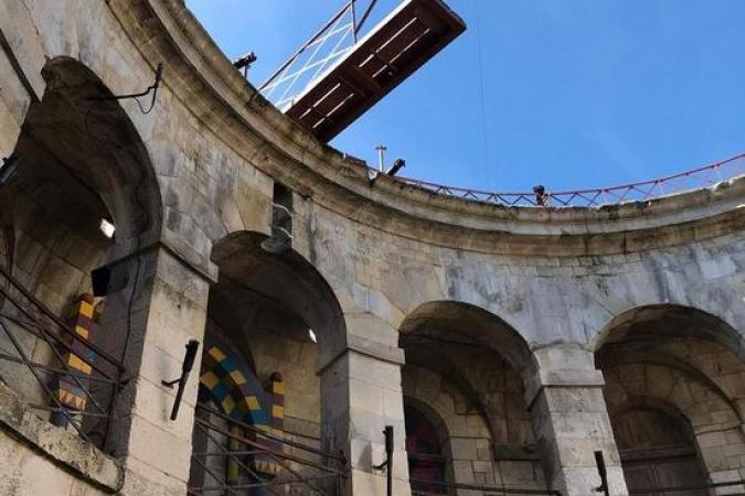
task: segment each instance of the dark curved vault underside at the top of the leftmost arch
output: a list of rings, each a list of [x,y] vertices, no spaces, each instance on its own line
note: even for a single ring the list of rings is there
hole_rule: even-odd
[[[55,57],[42,69],[46,87],[30,106],[17,147],[18,173],[24,154],[58,161],[99,196],[117,227],[114,257],[129,255],[160,237],[162,203],[148,150],[102,79],[81,62]],[[64,136],[61,137],[61,131]]]

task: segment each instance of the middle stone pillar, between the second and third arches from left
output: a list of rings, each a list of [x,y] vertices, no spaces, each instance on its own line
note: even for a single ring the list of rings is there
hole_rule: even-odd
[[[349,322],[348,322],[349,325]],[[321,364],[321,438],[343,451],[350,475],[344,496],[385,496],[386,475],[373,470],[385,460],[385,425],[394,429],[393,494],[411,495],[401,367],[404,353],[350,335],[347,348]]]

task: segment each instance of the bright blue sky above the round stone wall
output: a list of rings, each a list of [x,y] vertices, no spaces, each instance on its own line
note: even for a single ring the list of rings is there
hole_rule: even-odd
[[[397,3],[380,0],[373,22]],[[228,57],[256,52],[258,85],[342,0],[187,4]],[[333,147],[374,163],[383,142],[406,159],[402,175],[501,192],[652,179],[745,151],[745,0],[448,4],[468,31]]]

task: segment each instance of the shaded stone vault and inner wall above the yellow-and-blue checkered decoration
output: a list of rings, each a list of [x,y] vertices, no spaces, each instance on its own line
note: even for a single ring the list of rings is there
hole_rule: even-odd
[[[219,277],[210,290],[207,332],[246,357],[259,381],[283,377],[286,433],[316,448],[331,445],[326,428],[337,406],[324,395],[338,380],[319,368],[345,349],[344,316],[313,265],[292,249],[266,251],[266,239],[235,231],[214,245]]]

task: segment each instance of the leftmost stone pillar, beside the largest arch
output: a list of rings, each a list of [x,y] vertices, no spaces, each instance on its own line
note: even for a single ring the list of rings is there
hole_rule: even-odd
[[[102,334],[109,334],[107,348],[115,356],[126,345],[130,379],[116,401],[117,421],[109,443],[127,467],[120,494],[184,495],[201,346],[175,421],[169,417],[177,389],[166,388],[161,380],[181,375],[189,339],[203,341],[211,278],[159,245],[115,263],[114,273],[119,270],[128,274],[127,287],[107,296],[100,327]]]

